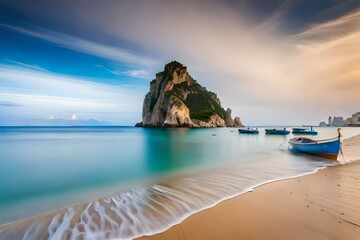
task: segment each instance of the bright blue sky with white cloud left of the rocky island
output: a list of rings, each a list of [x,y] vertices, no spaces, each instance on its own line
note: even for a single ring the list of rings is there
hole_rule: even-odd
[[[73,113],[116,125],[141,120],[155,60],[8,15],[0,24],[0,123],[31,125]]]

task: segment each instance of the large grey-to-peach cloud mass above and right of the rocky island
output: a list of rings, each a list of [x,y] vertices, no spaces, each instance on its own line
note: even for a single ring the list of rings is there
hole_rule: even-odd
[[[255,2],[261,6],[269,1]],[[44,3],[43,8],[27,8],[63,26],[76,25],[94,35],[131,43],[152,56],[145,62],[132,52],[124,57],[127,50],[118,46],[94,47],[94,41],[48,30],[18,31],[107,59],[130,59],[126,60],[134,64],[127,72],[130,76],[146,77],[137,69],[149,68],[140,65],[161,71],[158,62],[178,60],[245,123],[317,123],[328,114],[358,111],[359,11],[294,34],[278,26],[291,21],[285,18],[287,11],[303,1],[282,2],[268,17],[253,16],[255,21],[246,15],[246,8],[235,8],[228,1],[124,0],[106,5],[76,1],[71,7]],[[66,10],[69,18],[49,17],[54,12],[49,9]],[[114,57],[114,49],[120,49],[115,56],[121,57]]]

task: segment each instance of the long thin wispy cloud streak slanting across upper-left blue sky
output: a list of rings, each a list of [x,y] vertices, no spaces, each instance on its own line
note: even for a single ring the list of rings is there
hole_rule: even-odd
[[[158,65],[158,62],[152,58],[141,56],[141,54],[136,54],[117,46],[93,42],[43,28],[30,29],[6,24],[0,24],[0,26],[18,33],[52,42],[64,48],[91,54],[118,63],[135,64],[146,67]]]

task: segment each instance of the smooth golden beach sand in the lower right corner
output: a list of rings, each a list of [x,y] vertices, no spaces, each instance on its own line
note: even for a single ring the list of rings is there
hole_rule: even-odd
[[[342,149],[347,164],[263,185],[141,239],[360,239],[360,135]]]

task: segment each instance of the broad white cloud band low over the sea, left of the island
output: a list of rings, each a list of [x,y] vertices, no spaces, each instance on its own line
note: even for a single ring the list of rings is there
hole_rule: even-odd
[[[133,124],[136,120],[130,118],[138,115],[140,119],[144,94],[145,89],[141,88],[100,84],[88,78],[0,65],[2,105],[23,105],[22,111],[8,111],[5,115],[0,114],[0,118],[11,115],[13,118],[46,119],[50,115],[68,115],[71,111],[84,112],[84,118]],[[119,114],[123,115],[122,119]]]

